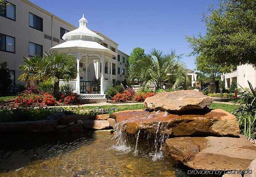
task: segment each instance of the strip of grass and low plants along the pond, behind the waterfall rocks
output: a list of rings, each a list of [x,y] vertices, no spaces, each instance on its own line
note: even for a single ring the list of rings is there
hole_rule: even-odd
[[[236,105],[227,105],[213,103],[211,109],[224,109],[232,112]],[[19,108],[19,109],[0,109],[0,122],[17,122],[17,121],[37,121],[44,120],[55,111],[64,111],[65,114],[112,114],[117,111],[144,109],[143,104],[134,105],[107,105],[107,106],[84,106],[84,107],[66,107],[66,108]]]

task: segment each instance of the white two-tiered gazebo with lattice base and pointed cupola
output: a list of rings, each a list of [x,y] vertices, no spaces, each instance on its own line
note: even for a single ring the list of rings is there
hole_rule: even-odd
[[[65,33],[66,42],[50,49],[52,53],[69,53],[77,59],[77,79],[60,81],[68,84],[83,102],[106,101],[104,91],[112,85],[112,58],[117,54],[101,45],[103,37],[87,28],[84,15],[79,20],[79,28]],[[105,63],[110,67],[105,68]],[[104,70],[110,68],[109,78],[104,78]],[[89,75],[89,76],[88,76]]]

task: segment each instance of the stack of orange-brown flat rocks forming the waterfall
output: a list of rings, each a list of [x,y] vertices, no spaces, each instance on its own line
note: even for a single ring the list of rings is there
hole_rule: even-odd
[[[213,98],[198,91],[162,92],[145,100],[143,109],[112,115],[122,132],[154,133],[161,124],[167,134],[165,156],[190,168],[246,170],[256,158],[256,146],[239,135],[236,117],[222,109],[209,109]]]

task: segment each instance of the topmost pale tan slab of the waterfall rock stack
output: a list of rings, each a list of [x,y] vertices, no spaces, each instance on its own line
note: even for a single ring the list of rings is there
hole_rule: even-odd
[[[144,106],[169,112],[208,108],[214,99],[194,90],[162,92],[146,98]]]

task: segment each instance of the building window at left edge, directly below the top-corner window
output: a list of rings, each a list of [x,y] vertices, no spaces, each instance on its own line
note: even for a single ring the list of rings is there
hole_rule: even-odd
[[[0,34],[0,50],[15,53],[15,37]]]

